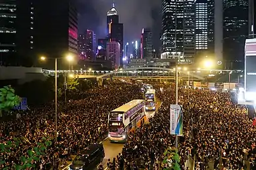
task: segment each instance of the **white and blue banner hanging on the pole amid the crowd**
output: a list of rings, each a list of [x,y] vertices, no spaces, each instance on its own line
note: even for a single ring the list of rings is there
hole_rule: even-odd
[[[181,105],[170,106],[171,135],[183,135],[183,112]]]

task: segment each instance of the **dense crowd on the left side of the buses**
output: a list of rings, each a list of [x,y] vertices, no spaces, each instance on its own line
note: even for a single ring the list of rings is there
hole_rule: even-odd
[[[113,82],[104,88],[93,88],[87,91],[85,99],[70,100],[58,104],[58,139],[55,135],[54,105],[31,108],[22,113],[19,120],[0,124],[0,144],[14,143],[14,137],[21,139],[16,149],[1,153],[0,159],[5,163],[0,169],[15,164],[22,164],[20,157],[28,157],[27,150],[37,147],[42,137],[50,137],[52,145],[40,161],[32,162],[37,169],[58,169],[59,160],[77,154],[87,145],[106,137],[107,113],[132,99],[142,99],[138,86]]]

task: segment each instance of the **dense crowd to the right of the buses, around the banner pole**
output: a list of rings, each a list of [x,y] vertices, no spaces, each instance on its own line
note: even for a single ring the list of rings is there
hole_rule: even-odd
[[[169,134],[169,105],[175,104],[175,88],[169,84],[154,84],[154,88],[162,106],[125,144],[123,156],[128,169],[147,169],[155,162],[161,166],[164,150],[175,146],[175,137]],[[184,137],[179,140],[181,169],[256,169],[256,128],[231,93],[186,88],[178,93],[184,110]]]

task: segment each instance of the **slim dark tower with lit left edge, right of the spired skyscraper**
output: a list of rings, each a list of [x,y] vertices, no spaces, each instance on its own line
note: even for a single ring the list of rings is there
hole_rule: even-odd
[[[151,59],[153,57],[153,40],[150,28],[142,29],[141,37],[141,59]]]

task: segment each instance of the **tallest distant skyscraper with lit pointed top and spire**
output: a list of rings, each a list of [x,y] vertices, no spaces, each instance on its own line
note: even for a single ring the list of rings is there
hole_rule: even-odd
[[[107,37],[109,42],[115,41],[120,44],[120,65],[123,66],[123,23],[119,23],[118,11],[113,7],[107,12]]]

